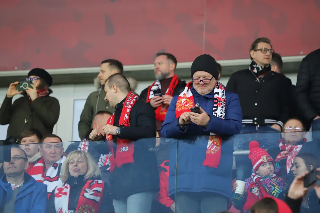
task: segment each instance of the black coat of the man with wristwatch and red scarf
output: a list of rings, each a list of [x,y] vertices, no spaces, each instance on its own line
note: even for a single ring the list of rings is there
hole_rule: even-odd
[[[119,119],[124,100],[116,105],[114,126]],[[120,135],[113,136],[116,150],[117,138],[134,141],[134,163],[116,167],[110,174],[111,195],[119,200],[141,192],[159,191],[159,173],[156,155],[156,114],[150,104],[140,99],[132,106],[129,116],[130,126],[120,126]],[[148,139],[151,138],[151,139]],[[116,152],[114,152],[116,157]]]

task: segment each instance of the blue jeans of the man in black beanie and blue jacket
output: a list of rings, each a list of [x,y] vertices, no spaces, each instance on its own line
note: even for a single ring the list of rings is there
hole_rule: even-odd
[[[214,193],[177,193],[178,213],[218,213],[227,210],[226,198]]]

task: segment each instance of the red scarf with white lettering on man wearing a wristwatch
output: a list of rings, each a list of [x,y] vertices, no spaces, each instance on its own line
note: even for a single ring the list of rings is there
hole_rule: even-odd
[[[129,117],[132,110],[132,106],[138,100],[138,95],[130,92],[126,99],[124,100],[124,105],[121,111],[119,126],[130,126]],[[113,125],[115,123],[115,114],[109,118],[107,124]],[[113,150],[112,135],[106,135],[109,147],[109,160],[110,160],[110,172],[112,172],[116,167],[121,167],[122,164],[133,163],[133,152],[134,145],[133,142],[126,139],[117,140],[116,156]]]

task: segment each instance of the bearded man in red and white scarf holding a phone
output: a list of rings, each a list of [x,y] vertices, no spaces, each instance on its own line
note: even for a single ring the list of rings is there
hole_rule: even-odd
[[[155,109],[157,131],[159,131],[172,97],[183,91],[186,82],[178,79],[174,73],[177,59],[172,54],[157,53],[154,65],[156,81],[141,92],[140,100],[146,101]]]

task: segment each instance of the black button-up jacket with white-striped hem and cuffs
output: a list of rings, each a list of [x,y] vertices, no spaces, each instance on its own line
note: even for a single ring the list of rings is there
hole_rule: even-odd
[[[283,74],[268,72],[260,82],[249,69],[233,73],[227,89],[239,95],[243,124],[283,126],[290,117],[289,83]]]

